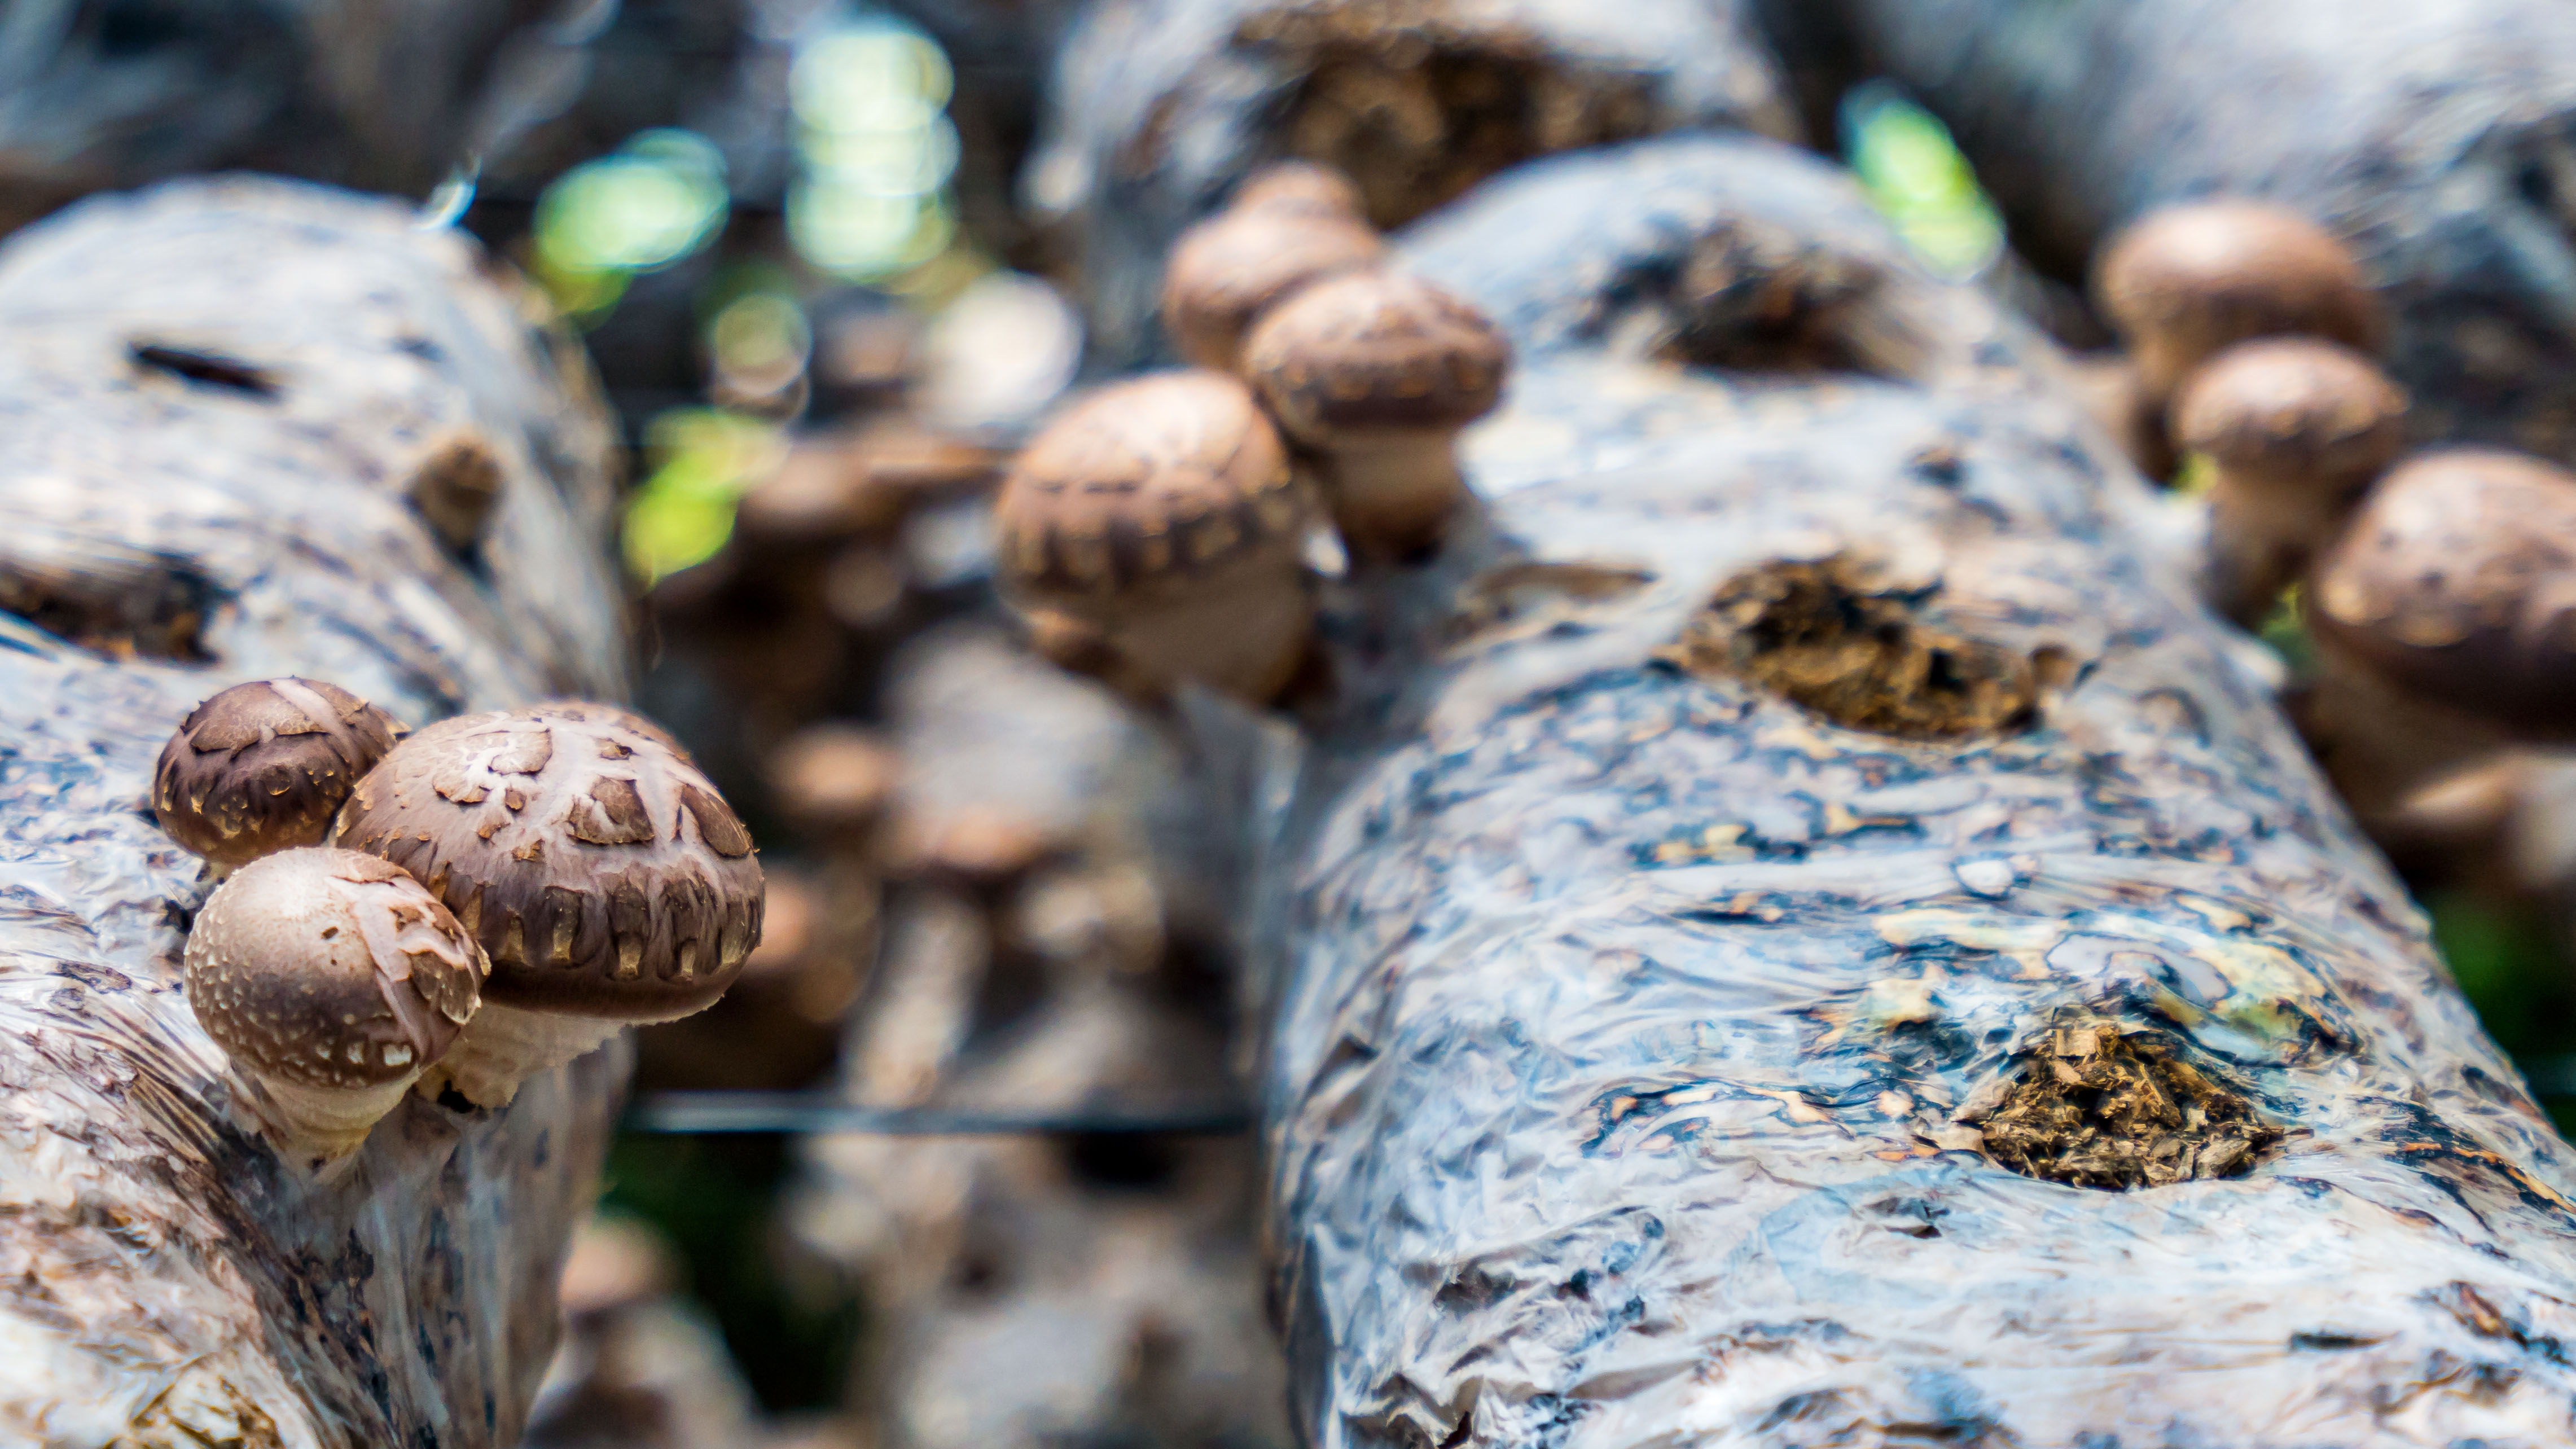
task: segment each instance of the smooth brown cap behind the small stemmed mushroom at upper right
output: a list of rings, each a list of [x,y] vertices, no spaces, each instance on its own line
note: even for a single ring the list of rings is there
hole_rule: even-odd
[[[2151,211],[2102,252],[2094,293],[2159,399],[2231,342],[2313,335],[2375,353],[2383,332],[2352,252],[2264,201]]]

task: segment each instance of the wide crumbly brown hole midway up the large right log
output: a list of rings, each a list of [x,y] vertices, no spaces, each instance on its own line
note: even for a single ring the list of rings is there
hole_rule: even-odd
[[[1901,739],[1976,739],[2040,721],[2071,674],[2063,649],[2030,654],[1927,620],[1932,589],[1870,584],[1850,558],[1772,561],[1739,574],[1659,656],[1726,674],[1829,721]]]

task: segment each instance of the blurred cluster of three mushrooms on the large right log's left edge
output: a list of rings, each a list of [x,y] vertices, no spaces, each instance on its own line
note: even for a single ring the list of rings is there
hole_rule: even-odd
[[[1455,435],[1502,396],[1510,345],[1388,268],[1350,183],[1309,165],[1182,234],[1164,324],[1193,368],[1103,389],[1023,450],[1005,589],[1061,664],[1270,703],[1314,628],[1314,492],[1363,558],[1437,543],[1466,497]]]

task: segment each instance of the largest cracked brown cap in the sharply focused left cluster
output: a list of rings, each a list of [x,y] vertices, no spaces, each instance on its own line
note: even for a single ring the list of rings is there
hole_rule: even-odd
[[[551,703],[433,723],[340,811],[335,844],[422,880],[492,957],[492,1001],[616,1022],[708,1006],[760,942],[760,862],[657,726]]]

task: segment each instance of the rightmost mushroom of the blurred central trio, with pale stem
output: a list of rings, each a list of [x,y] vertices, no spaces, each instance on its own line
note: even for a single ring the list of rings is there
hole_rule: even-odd
[[[1321,281],[1244,342],[1244,376],[1319,456],[1324,497],[1360,556],[1437,543],[1466,499],[1458,430],[1502,399],[1512,345],[1473,304],[1406,273]]]

